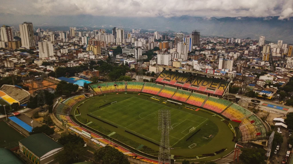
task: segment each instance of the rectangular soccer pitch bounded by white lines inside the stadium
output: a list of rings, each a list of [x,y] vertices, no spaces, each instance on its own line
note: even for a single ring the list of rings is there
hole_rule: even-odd
[[[174,146],[191,132],[200,129],[201,125],[208,120],[205,117],[166,107],[139,97],[130,97],[126,100],[115,102],[107,107],[93,111],[91,114],[159,144],[161,137],[157,128],[159,109],[169,109],[171,111],[173,130],[170,131],[169,135],[170,146]]]

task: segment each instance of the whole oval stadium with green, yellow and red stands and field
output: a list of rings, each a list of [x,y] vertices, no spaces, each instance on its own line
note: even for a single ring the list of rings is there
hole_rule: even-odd
[[[163,71],[156,83],[105,82],[89,86],[93,97],[78,95],[53,110],[59,123],[90,134],[129,158],[157,163],[161,133],[158,111],[171,111],[172,158],[199,162],[222,158],[238,141],[266,141],[264,122],[221,97],[229,81],[200,74]]]

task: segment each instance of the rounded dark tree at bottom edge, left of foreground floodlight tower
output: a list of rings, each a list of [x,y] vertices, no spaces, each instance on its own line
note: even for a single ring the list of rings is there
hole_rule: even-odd
[[[103,164],[130,164],[126,156],[111,146],[105,146],[94,153],[96,162],[102,161]]]

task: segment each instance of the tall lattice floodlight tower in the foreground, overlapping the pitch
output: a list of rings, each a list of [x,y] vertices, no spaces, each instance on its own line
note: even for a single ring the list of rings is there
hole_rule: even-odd
[[[159,148],[159,160],[158,164],[171,164],[169,131],[171,126],[171,114],[169,109],[160,109],[158,113],[159,126],[158,130],[161,130],[161,142]]]

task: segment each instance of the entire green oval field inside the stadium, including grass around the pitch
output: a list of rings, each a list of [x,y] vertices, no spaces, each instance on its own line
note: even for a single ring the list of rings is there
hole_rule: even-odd
[[[233,150],[234,133],[227,123],[235,127],[235,122],[225,122],[208,110],[185,109],[185,105],[198,108],[189,104],[162,103],[166,98],[155,96],[161,99],[158,101],[151,99],[151,96],[130,93],[94,96],[74,105],[71,115],[75,115],[77,121],[89,128],[125,144],[129,143],[134,149],[139,150],[141,144],[158,150],[161,138],[161,132],[158,130],[158,111],[169,109],[173,128],[169,134],[171,154],[200,156],[221,149],[227,149],[226,153]],[[84,104],[81,104],[82,102]],[[110,102],[115,103],[108,104]],[[79,104],[80,115],[75,111]],[[139,144],[135,145],[132,141]],[[222,156],[224,155],[222,153]],[[221,156],[214,156],[215,159],[218,157]]]

